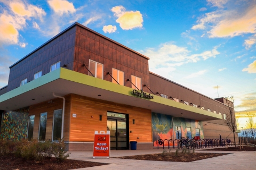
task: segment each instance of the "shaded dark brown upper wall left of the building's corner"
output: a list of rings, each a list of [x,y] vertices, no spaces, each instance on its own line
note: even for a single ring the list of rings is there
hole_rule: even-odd
[[[73,70],[74,46],[75,27],[47,41],[11,67],[7,91],[20,87],[23,79],[27,78],[27,82],[34,80],[34,74],[38,71],[42,70],[42,75],[49,73],[50,66],[58,61],[61,61],[61,66],[66,64],[69,70]]]

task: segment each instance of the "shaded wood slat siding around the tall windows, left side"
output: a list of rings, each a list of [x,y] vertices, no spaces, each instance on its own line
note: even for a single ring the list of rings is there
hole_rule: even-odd
[[[69,141],[70,95],[67,95],[64,97],[66,99],[66,104],[65,104],[65,120],[64,120],[63,138],[65,141]],[[49,100],[29,107],[29,115],[35,115],[33,139],[38,139],[40,114],[45,112],[47,112],[45,140],[52,139],[53,112],[57,109],[62,109],[63,99],[54,98],[52,99],[52,103],[48,103],[48,101]]]

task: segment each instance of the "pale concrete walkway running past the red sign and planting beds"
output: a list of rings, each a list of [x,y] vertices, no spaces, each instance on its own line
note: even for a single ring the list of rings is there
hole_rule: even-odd
[[[166,149],[167,150],[167,149]],[[161,153],[163,149],[149,150],[111,150],[111,157],[144,155]],[[169,151],[169,150],[168,150]],[[174,149],[172,149],[174,151]],[[110,165],[95,166],[90,168],[81,168],[79,170],[92,169],[256,169],[256,151],[207,151],[197,150],[196,152],[218,152],[218,153],[233,153],[219,157],[197,160],[190,163],[180,162],[160,162],[151,160],[132,160],[132,159],[117,159],[117,158],[92,158],[92,151],[72,151],[70,159],[86,160],[91,162],[108,163]]]

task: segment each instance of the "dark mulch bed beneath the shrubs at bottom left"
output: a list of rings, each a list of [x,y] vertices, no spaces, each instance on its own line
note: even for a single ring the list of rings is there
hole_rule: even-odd
[[[0,169],[77,169],[92,166],[107,165],[103,163],[86,162],[82,160],[66,159],[62,163],[57,163],[55,158],[44,159],[40,162],[34,160],[27,160],[23,158],[16,158],[14,155],[0,156]]]

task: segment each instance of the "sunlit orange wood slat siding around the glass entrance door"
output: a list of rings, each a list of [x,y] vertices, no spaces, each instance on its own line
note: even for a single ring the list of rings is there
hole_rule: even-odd
[[[151,111],[71,94],[70,141],[91,142],[94,131],[107,130],[107,112],[129,114],[129,141],[152,142]],[[100,121],[102,115],[102,121]],[[135,124],[132,124],[132,120]],[[139,137],[139,139],[137,139]]]

